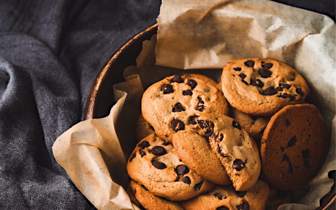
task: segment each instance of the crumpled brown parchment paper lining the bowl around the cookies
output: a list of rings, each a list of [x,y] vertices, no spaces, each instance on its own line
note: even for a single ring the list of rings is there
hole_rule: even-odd
[[[201,73],[219,81],[221,69],[213,68],[222,68],[229,60],[270,57],[287,62],[305,77],[311,89],[307,101],[321,110],[332,131],[330,151],[319,174],[297,204],[279,209],[319,206],[333,183],[328,171],[336,168],[335,23],[321,14],[261,0],[164,0],[158,22],[156,48],[156,36],[143,43],[137,66],[128,67],[126,82],[114,86],[117,103],[110,115],[78,123],[53,145],[55,159],[84,196],[97,209],[138,209],[124,188],[143,89],[173,74]]]

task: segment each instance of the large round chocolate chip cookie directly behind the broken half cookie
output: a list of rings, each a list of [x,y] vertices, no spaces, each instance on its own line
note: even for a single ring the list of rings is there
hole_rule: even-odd
[[[197,116],[204,113],[227,115],[228,104],[214,86],[190,75],[175,75],[146,89],[141,110],[155,133],[171,142],[177,131],[195,128]]]

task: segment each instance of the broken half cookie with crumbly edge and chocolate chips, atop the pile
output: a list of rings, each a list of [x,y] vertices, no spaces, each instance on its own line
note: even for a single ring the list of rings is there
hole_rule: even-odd
[[[260,174],[257,144],[241,125],[225,115],[204,114],[196,119],[198,133],[209,140],[237,191],[254,186]]]

